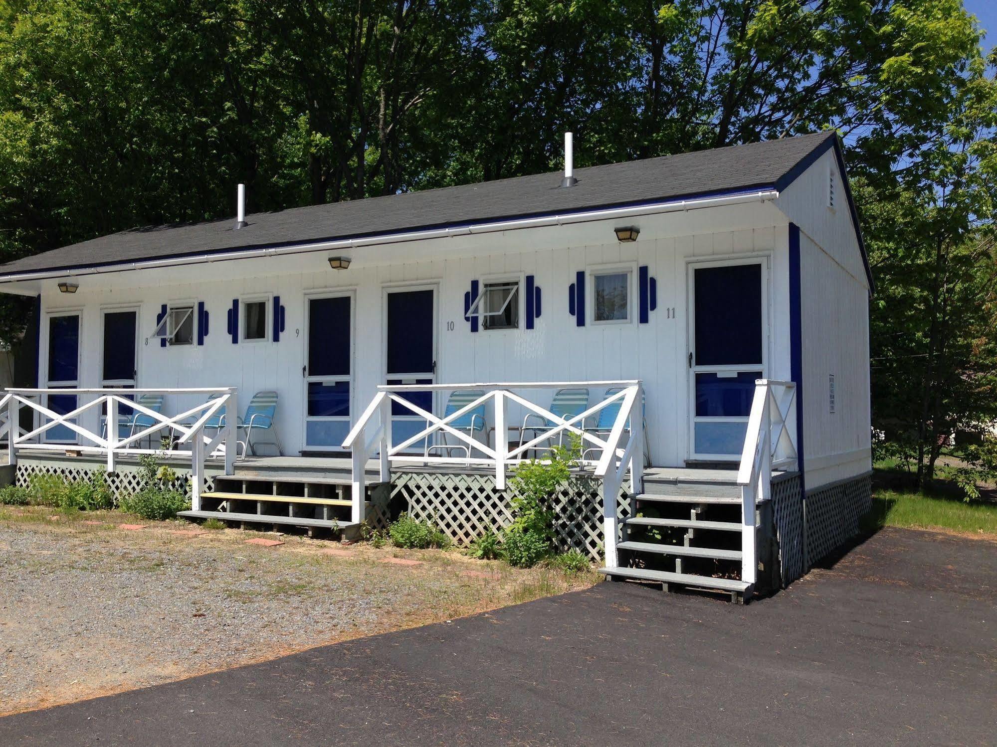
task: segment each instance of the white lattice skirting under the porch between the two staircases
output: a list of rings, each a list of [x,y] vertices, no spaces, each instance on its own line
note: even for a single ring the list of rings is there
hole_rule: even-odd
[[[401,497],[409,514],[436,524],[458,545],[470,545],[486,532],[500,532],[512,522],[511,488],[499,491],[495,475],[401,472],[393,475],[392,498]],[[578,550],[602,560],[600,480],[572,480],[554,500],[558,551]],[[621,491],[617,515],[626,517],[629,497]]]

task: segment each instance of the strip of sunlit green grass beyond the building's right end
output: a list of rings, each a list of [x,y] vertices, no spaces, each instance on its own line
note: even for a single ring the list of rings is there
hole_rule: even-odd
[[[948,529],[997,535],[997,504],[965,503],[898,490],[876,490],[866,528]]]

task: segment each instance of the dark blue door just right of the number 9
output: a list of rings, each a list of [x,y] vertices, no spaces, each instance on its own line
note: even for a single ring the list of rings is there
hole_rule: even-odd
[[[342,451],[352,411],[353,296],[310,297],[306,306],[305,447]]]

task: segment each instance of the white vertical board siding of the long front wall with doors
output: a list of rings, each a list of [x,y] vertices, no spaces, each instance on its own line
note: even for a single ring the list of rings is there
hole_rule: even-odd
[[[788,324],[780,305],[788,294],[785,228],[744,229],[678,237],[638,240],[633,243],[577,245],[539,249],[529,253],[496,251],[480,256],[461,256],[424,262],[398,262],[363,267],[355,263],[348,271],[320,269],[314,272],[261,273],[253,277],[217,281],[155,285],[148,288],[123,286],[114,292],[115,304],[140,307],[139,385],[150,387],[238,386],[244,411],[253,392],[276,389],[280,400],[277,425],[285,453],[304,447],[303,413],[305,385],[306,299],[308,294],[341,292],[354,294],[352,413],[356,417],[385,379],[384,293],[388,287],[433,285],[438,289],[437,375],[441,382],[496,380],[595,380],[641,378],[644,381],[648,436],[655,464],[681,465],[688,455],[689,379],[687,273],[688,262],[719,259],[740,253],[771,256],[770,298],[774,308],[771,331],[773,373],[789,374]],[[589,272],[600,265],[646,267],[655,280],[652,300],[657,310],[640,324],[639,285],[634,272],[631,285],[632,320],[629,324],[590,324]],[[533,329],[528,332],[525,309],[525,278],[531,276],[537,290],[548,294],[547,303],[533,309]],[[130,276],[141,278],[141,275]],[[191,275],[195,277],[195,275]],[[519,326],[516,331],[486,331],[465,321],[466,294],[491,279],[520,282]],[[568,312],[568,287],[576,284],[575,317]],[[477,295],[477,294],[476,294]],[[238,299],[266,296],[271,299],[271,339],[237,345]],[[654,298],[656,297],[656,298]],[[80,290],[72,308],[82,308],[83,351],[81,385],[100,384],[101,307],[107,295]],[[71,308],[58,293],[43,299],[49,307]],[[178,301],[203,304],[206,317],[214,317],[215,329],[203,345],[161,348],[151,339],[163,305]],[[283,325],[280,313],[283,307]],[[230,335],[224,332],[227,314],[233,316]],[[220,320],[220,321],[218,321]],[[198,320],[200,322],[200,320]],[[453,323],[453,330],[450,324]],[[220,325],[220,326],[219,326]],[[279,332],[278,332],[279,330]],[[334,334],[330,331],[329,334]],[[198,337],[200,333],[198,332]],[[786,337],[785,342],[782,337]],[[279,338],[279,342],[278,342]],[[147,343],[147,339],[149,342]],[[42,349],[45,348],[43,344]],[[846,394],[842,376],[842,401]],[[594,403],[601,388],[590,392]],[[551,392],[536,393],[549,403]],[[167,411],[190,406],[194,401],[171,401]],[[437,407],[442,408],[438,401]],[[508,421],[521,424],[522,412],[512,408]],[[489,420],[494,414],[489,413]]]

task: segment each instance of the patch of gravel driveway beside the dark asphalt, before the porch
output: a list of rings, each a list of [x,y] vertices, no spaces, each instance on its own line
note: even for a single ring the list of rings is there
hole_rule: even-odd
[[[455,552],[120,515],[0,512],[0,714],[438,622],[592,583]],[[185,531],[184,531],[185,530]],[[284,544],[248,544],[251,538]],[[412,561],[418,559],[416,563]]]

